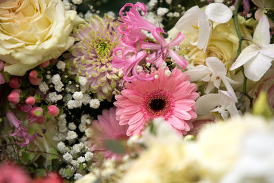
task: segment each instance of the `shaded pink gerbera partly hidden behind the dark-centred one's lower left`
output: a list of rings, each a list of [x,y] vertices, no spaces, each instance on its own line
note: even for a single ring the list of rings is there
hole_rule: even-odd
[[[101,153],[105,158],[119,160],[125,154],[115,154],[107,148],[107,143],[110,143],[110,141],[118,141],[121,144],[125,143],[128,138],[126,135],[128,126],[119,125],[115,112],[115,108],[110,108],[110,110],[105,109],[102,111],[102,115],[97,117],[98,120],[92,121],[94,135],[91,142],[91,151]]]

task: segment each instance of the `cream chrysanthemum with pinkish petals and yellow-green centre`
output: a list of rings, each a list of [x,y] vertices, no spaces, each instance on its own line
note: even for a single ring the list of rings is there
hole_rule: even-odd
[[[92,16],[89,22],[74,29],[73,36],[77,42],[71,48],[69,71],[71,74],[86,77],[86,86],[82,90],[90,90],[96,97],[112,98],[122,73],[112,67],[112,51],[120,46],[122,34],[118,32],[119,23],[109,16],[103,19]]]

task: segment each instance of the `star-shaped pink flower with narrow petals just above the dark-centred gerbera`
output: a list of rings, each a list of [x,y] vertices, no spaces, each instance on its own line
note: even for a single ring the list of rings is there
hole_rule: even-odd
[[[173,51],[172,47],[177,47],[182,40],[186,37],[185,35],[182,35],[180,32],[177,34],[177,37],[173,39],[171,42],[166,42],[164,37],[160,34],[164,34],[162,29],[156,28],[153,29],[151,32],[153,38],[158,42],[158,44],[155,44],[153,42],[141,42],[140,48],[141,49],[156,49],[158,50],[155,55],[153,55],[155,58],[152,58],[156,64],[156,66],[160,66],[162,62],[166,59],[168,54],[171,56],[171,58],[180,66],[182,69],[186,69],[186,65],[188,62],[184,60],[181,56],[179,56],[175,51]]]

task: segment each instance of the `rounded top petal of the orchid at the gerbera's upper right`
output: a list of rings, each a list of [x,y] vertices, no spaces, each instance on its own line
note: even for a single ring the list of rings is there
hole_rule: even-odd
[[[227,74],[227,69],[223,65],[223,62],[216,57],[206,58],[206,64],[212,69],[214,75],[223,76]]]

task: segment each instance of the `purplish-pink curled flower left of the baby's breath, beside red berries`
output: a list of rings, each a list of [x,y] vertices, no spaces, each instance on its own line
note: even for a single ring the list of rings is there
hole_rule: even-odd
[[[23,141],[25,141],[23,143],[18,143],[16,141],[18,145],[20,145],[21,147],[25,147],[26,145],[29,144],[29,141],[34,141],[34,139],[36,138],[36,134],[34,135],[28,134],[27,127],[23,126],[23,121],[18,120],[12,111],[8,111],[6,114],[6,117],[8,121],[10,122],[10,125],[12,127],[15,127],[14,133],[10,134],[10,136],[16,136],[18,138],[23,139]]]

